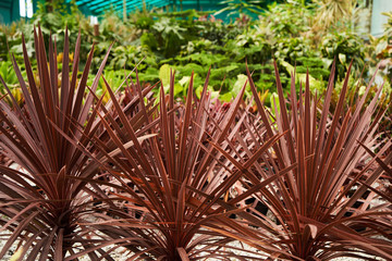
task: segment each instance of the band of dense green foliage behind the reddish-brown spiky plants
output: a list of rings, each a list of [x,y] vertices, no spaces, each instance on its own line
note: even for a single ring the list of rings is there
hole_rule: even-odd
[[[42,33],[46,33],[45,42],[48,44],[48,34],[51,32],[60,40],[58,49],[62,48],[65,25],[71,32],[81,29],[81,53],[88,53],[91,42],[97,42],[91,63],[94,72],[98,70],[106,50],[114,42],[106,71],[108,79],[117,78],[115,74],[109,72],[130,71],[138,64],[139,79],[147,84],[159,80],[157,72],[163,64],[169,64],[175,70],[179,79],[189,77],[194,72],[195,85],[203,86],[203,79],[211,67],[213,70],[210,75],[210,89],[220,90],[221,96],[229,94],[224,96],[225,100],[231,97],[238,75],[245,73],[245,61],[253,71],[258,91],[262,94],[267,90],[270,90],[270,94],[275,91],[273,60],[278,61],[286,92],[290,91],[291,75],[285,70],[285,63],[296,67],[301,76],[298,78],[303,78],[309,71],[310,80],[318,86],[319,91],[327,86],[334,58],[338,59],[336,80],[342,79],[352,59],[356,76],[364,69],[365,44],[350,32],[350,26],[344,25],[340,28],[339,22],[331,28],[317,27],[315,17],[321,12],[320,4],[309,1],[273,3],[269,7],[261,1],[226,3],[231,10],[240,9],[238,17],[232,23],[223,23],[208,12],[162,12],[144,7],[130,14],[125,21],[113,10],[109,10],[99,18],[99,25],[93,26],[76,5],[71,4],[69,8],[61,1],[56,1],[58,8],[52,12],[48,12],[47,5],[40,5],[32,21],[0,27],[0,60],[10,59],[7,53],[8,40],[17,63],[23,62],[20,37],[22,34],[26,36],[28,55],[34,57],[34,40],[30,35],[33,24],[39,22]],[[246,15],[249,10],[250,13],[259,14],[258,20]],[[71,47],[75,45],[75,34],[71,34]],[[385,40],[377,39],[372,42],[373,48],[367,50],[373,53],[370,61],[373,63],[372,66],[376,66],[377,59],[390,58],[391,51]],[[84,66],[83,63],[81,65]],[[36,64],[33,64],[33,67],[35,66]],[[61,66],[59,69],[61,70]],[[103,87],[101,84],[99,86]],[[183,91],[179,91],[179,97],[182,97],[182,94]]]

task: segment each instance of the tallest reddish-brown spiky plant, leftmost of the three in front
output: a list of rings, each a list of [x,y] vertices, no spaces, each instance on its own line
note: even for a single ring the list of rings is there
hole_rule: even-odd
[[[93,50],[82,77],[77,78],[78,36],[70,77],[69,36],[65,30],[59,88],[56,45],[50,39],[48,62],[39,27],[38,32],[34,30],[34,39],[38,65],[36,74],[23,39],[27,82],[13,58],[24,105],[19,105],[0,77],[12,100],[12,107],[3,99],[0,101],[1,152],[13,162],[11,166],[0,166],[0,231],[11,232],[0,250],[0,258],[13,244],[17,244],[21,259],[63,260],[65,256],[72,257],[74,252],[89,249],[86,251],[95,260],[98,259],[95,250],[103,253],[103,250],[95,248],[102,241],[94,231],[78,225],[91,213],[91,196],[97,197],[97,192],[93,192],[84,181],[95,176],[99,166],[98,161],[91,160],[93,156],[99,154],[94,152],[89,139],[100,129],[96,121],[100,101],[94,109],[93,94],[85,97]],[[107,58],[108,54],[91,90],[98,86]]]

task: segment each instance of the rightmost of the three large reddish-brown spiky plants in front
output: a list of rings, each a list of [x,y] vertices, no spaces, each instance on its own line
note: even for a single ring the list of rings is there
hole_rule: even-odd
[[[259,111],[257,121],[262,121],[264,128],[253,136],[262,133],[267,137],[277,133],[285,135],[267,156],[246,170],[260,178],[249,181],[253,184],[249,189],[256,187],[256,200],[250,209],[257,216],[257,222],[250,224],[259,228],[256,238],[245,237],[244,240],[254,243],[253,246],[261,250],[267,245],[286,251],[273,254],[280,259],[355,257],[372,260],[371,254],[391,259],[391,201],[378,192],[378,183],[383,181],[380,177],[384,171],[390,172],[388,165],[392,162],[391,153],[383,161],[379,159],[392,142],[388,137],[382,139],[377,132],[385,111],[378,110],[381,89],[365,107],[370,83],[354,109],[343,113],[348,70],[339,102],[331,113],[334,70],[323,100],[311,97],[308,79],[305,94],[299,92],[297,98],[293,76],[292,92],[286,101],[277,67],[275,72],[279,104],[274,105],[280,110],[275,108],[275,121],[271,122],[255,96]],[[257,94],[249,72],[248,77],[254,94]],[[245,145],[245,141],[241,142]],[[237,169],[243,167],[238,161],[254,156],[246,146],[241,149],[245,153],[240,159],[226,156]],[[376,159],[383,165],[375,166]],[[277,176],[287,165],[295,165],[295,169]],[[268,183],[257,189],[266,181]],[[381,202],[375,202],[380,198]],[[237,202],[235,198],[228,201],[231,204]]]

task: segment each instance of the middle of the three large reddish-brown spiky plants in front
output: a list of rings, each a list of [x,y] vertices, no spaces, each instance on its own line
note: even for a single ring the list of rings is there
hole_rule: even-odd
[[[234,237],[205,228],[218,228],[222,224],[235,228],[236,222],[229,216],[246,215],[244,209],[225,203],[229,189],[240,183],[243,175],[240,172],[230,175],[225,163],[218,161],[221,153],[212,145],[222,144],[223,148],[233,145],[231,139],[242,126],[237,120],[246,85],[229,109],[222,107],[218,111],[210,110],[207,86],[208,77],[200,100],[194,102],[192,76],[186,103],[177,105],[172,75],[170,95],[164,96],[163,86],[160,89],[159,119],[149,115],[145,126],[154,127],[142,127],[138,132],[154,135],[143,142],[137,140],[137,132],[108,89],[121,121],[111,125],[114,121],[107,114],[102,122],[121,153],[109,157],[111,167],[106,169],[109,178],[114,179],[100,182],[112,188],[110,198],[118,207],[111,207],[109,213],[117,220],[103,221],[100,231],[123,240],[121,245],[131,250],[131,259],[246,257],[230,251],[230,248],[241,250],[228,245]],[[140,110],[148,114],[146,108]],[[273,136],[262,145],[258,154],[278,138]]]

